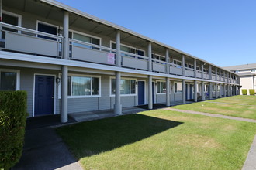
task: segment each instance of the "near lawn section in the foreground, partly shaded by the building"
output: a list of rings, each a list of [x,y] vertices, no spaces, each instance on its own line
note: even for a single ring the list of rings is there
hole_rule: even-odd
[[[256,124],[151,110],[56,131],[84,169],[241,169]]]

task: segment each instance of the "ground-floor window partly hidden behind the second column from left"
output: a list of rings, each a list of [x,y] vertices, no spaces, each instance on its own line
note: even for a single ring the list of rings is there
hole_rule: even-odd
[[[116,79],[111,79],[111,94],[116,93]],[[136,94],[136,80],[121,79],[120,93],[123,95]]]

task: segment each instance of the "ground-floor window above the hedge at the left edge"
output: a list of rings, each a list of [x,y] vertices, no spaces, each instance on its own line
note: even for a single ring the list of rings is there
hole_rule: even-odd
[[[19,90],[18,70],[0,70],[0,90]]]

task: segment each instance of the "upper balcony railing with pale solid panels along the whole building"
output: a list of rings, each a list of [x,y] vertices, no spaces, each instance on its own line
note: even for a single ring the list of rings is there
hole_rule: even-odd
[[[63,36],[56,36],[33,29],[12,26],[0,22],[1,36],[0,48],[5,51],[27,53],[37,56],[50,56],[62,58]],[[116,66],[116,49],[99,46],[89,42],[69,39],[69,59]],[[159,59],[150,59],[152,71],[157,73],[170,73],[178,76],[196,77],[210,80],[210,73],[183,67],[174,63],[167,63]],[[121,51],[121,66],[136,70],[149,70],[149,59],[134,53]],[[216,78],[217,76],[217,78]],[[230,83],[230,78],[211,74],[212,80]],[[234,80],[236,83],[237,80]]]

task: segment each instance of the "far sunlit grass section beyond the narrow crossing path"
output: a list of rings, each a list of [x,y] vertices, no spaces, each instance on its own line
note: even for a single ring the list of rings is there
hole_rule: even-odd
[[[221,102],[222,104],[210,102]],[[193,104],[178,105],[172,108],[194,110],[210,114],[223,114],[256,120],[256,96],[225,97]]]

